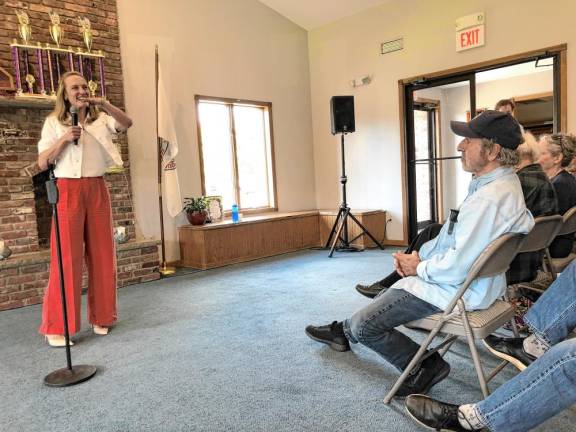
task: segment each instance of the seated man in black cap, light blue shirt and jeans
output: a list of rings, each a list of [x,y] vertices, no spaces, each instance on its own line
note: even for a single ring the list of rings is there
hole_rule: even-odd
[[[403,370],[419,346],[396,330],[399,325],[441,312],[456,294],[470,267],[486,246],[504,233],[527,233],[534,225],[512,166],[522,142],[520,127],[509,114],[485,111],[469,123],[451,122],[465,136],[458,145],[463,168],[474,174],[458,221],[445,224],[440,234],[412,254],[394,254],[404,276],[390,290],[343,322],[308,326],[306,334],[337,351],[362,343],[397,369]],[[502,296],[503,274],[474,281],[463,300],[469,310],[485,309]],[[438,354],[424,360],[397,393],[427,392],[450,372]]]

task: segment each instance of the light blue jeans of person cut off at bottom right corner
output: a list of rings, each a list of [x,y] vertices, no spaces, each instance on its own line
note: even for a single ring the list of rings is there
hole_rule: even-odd
[[[576,403],[576,339],[564,340],[576,327],[576,262],[550,285],[525,321],[552,347],[476,404],[492,431],[527,431]]]

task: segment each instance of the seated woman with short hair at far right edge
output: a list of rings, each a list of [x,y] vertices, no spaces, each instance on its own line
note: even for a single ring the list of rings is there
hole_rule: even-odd
[[[566,167],[576,155],[576,137],[568,134],[544,135],[538,142],[538,163],[552,182],[558,198],[558,213],[564,214],[576,206],[576,179]],[[552,258],[565,258],[572,251],[574,234],[556,237],[550,245]]]

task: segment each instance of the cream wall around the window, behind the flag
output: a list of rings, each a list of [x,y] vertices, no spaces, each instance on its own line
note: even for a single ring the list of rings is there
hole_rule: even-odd
[[[307,33],[256,0],[118,0],[137,230],[159,238],[154,45],[180,153],[182,196],[201,194],[194,95],[272,102],[280,211],[316,207]],[[164,211],[167,261],[179,258]]]

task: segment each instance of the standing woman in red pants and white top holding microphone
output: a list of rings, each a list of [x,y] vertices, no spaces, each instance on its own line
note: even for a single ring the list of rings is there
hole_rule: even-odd
[[[78,113],[72,126],[70,110]],[[54,165],[70,334],[80,330],[82,268],[88,268],[88,321],[94,333],[107,334],[116,321],[116,256],[110,197],[104,173],[122,158],[112,142],[132,120],[105,99],[90,97],[77,72],[62,75],[54,111],[38,142],[38,165]],[[44,296],[40,333],[51,346],[64,346],[60,275],[52,227],[50,279]]]

